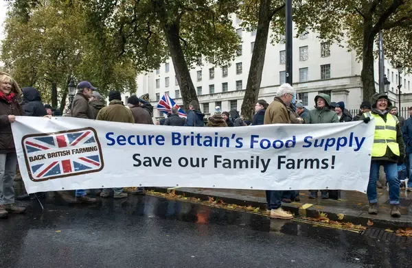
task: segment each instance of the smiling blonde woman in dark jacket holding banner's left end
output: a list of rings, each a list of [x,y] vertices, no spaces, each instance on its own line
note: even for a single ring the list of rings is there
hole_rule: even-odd
[[[16,121],[16,115],[23,115],[17,101],[19,97],[19,85],[8,73],[0,72],[0,219],[7,218],[9,212],[25,212],[24,207],[14,204],[13,188],[17,156],[11,124]]]

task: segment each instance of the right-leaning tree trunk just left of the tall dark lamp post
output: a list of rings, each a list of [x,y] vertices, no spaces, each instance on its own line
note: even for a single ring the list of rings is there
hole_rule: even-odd
[[[272,17],[271,0],[261,0],[255,46],[253,47],[251,67],[249,69],[241,112],[244,118],[249,120],[252,119],[253,108],[255,107],[255,103],[258,102],[260,82],[262,82],[264,57],[266,55],[266,45],[268,42],[268,33]]]

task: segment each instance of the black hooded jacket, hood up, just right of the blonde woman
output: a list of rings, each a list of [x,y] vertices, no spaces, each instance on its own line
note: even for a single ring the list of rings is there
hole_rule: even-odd
[[[28,86],[22,88],[23,90],[23,112],[26,117],[44,117],[47,112],[43,103],[41,103],[41,96],[36,88]]]

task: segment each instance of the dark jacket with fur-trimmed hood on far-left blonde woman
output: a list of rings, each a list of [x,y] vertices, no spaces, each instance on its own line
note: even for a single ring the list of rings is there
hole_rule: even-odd
[[[0,75],[8,75],[8,73],[0,72]],[[13,80],[12,93],[15,96],[8,101],[0,97],[0,154],[14,153],[16,151],[14,147],[12,125],[8,120],[8,116],[13,114],[16,116],[23,115],[23,108],[19,103],[21,98],[21,89],[19,84]]]

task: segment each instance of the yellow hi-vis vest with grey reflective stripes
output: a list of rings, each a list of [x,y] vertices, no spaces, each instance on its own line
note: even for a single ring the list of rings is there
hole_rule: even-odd
[[[399,156],[399,145],[396,143],[396,125],[398,125],[398,119],[387,113],[387,121],[382,119],[379,114],[372,114],[371,112],[365,113],[365,117],[374,117],[375,119],[375,136],[374,146],[372,147],[372,157],[385,156],[387,147],[391,149],[393,154]]]

